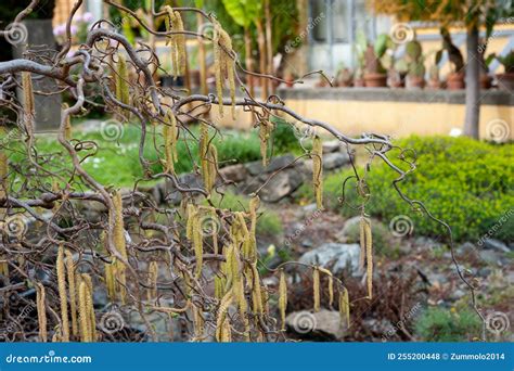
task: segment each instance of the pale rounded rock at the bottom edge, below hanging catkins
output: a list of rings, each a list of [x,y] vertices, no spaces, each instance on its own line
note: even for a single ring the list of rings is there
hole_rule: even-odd
[[[285,318],[285,323],[290,331],[301,337],[340,341],[345,336],[339,312],[335,310],[321,309],[316,314],[294,311]]]

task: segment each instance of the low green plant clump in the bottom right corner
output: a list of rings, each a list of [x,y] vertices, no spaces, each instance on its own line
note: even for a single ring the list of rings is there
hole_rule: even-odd
[[[470,309],[431,307],[416,319],[414,329],[424,342],[463,342],[477,337],[480,327],[478,316]]]

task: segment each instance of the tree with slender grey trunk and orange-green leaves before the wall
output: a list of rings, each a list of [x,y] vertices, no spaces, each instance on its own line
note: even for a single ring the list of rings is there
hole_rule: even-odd
[[[480,46],[479,30],[486,40],[494,25],[514,14],[512,0],[390,0],[373,1],[377,13],[395,15],[399,21],[436,21],[446,29],[450,25],[466,28],[466,116],[464,135],[478,139],[480,117]]]

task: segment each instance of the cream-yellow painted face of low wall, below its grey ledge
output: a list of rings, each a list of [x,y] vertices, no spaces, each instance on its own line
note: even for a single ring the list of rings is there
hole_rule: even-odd
[[[362,132],[383,133],[396,138],[413,133],[449,135],[452,129],[462,130],[465,116],[463,104],[331,100],[286,100],[285,103],[304,117],[329,123],[351,136],[359,136]],[[252,116],[242,110],[237,110],[236,120],[229,117],[230,113],[220,119],[216,112],[217,110],[213,111],[215,121],[221,126],[237,129],[252,127]],[[489,130],[492,125],[499,125],[498,123],[507,128],[509,139],[513,140],[514,106],[481,105],[480,138],[490,139]]]

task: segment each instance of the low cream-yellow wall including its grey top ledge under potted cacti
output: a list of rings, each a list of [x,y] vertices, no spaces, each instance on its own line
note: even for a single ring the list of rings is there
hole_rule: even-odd
[[[386,133],[394,137],[412,133],[449,135],[453,129],[462,130],[465,116],[464,91],[317,88],[283,89],[278,94],[298,114],[326,121],[352,136],[362,132]],[[227,116],[229,115],[220,120],[223,126],[235,128],[252,126],[252,117],[242,111],[239,111],[235,121]],[[493,125],[506,128],[505,139],[514,139],[512,92],[483,91],[480,138],[490,139]]]

